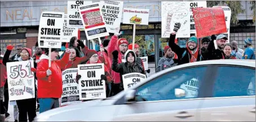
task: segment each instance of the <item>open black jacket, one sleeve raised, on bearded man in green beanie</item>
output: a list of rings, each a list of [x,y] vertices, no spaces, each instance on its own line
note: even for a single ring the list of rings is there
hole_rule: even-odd
[[[174,53],[176,53],[176,55],[178,56],[178,60],[179,60],[178,64],[180,65],[180,64],[189,63],[191,54],[189,53],[187,48],[180,48],[179,45],[175,44],[175,37],[176,35],[173,35],[173,34],[170,35],[169,46],[171,50],[173,50]],[[201,60],[201,55],[200,53],[198,53],[197,61],[200,61],[200,60]]]

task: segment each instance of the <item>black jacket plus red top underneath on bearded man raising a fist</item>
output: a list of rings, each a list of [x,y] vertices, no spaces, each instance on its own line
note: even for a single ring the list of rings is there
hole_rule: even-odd
[[[180,48],[179,45],[175,44],[175,36],[176,34],[170,34],[169,46],[171,50],[173,50],[174,53],[178,55],[179,65],[190,63],[190,62],[197,62],[201,60],[200,58],[201,55],[200,53],[198,53],[198,45],[195,51],[191,51],[188,48],[188,41],[187,41],[186,48]],[[197,44],[198,44],[198,41],[197,41]]]

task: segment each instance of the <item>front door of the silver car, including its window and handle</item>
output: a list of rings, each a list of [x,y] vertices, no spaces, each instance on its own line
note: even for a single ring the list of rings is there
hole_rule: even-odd
[[[211,72],[206,66],[190,67],[152,79],[136,88],[135,102],[118,105],[113,121],[198,121],[206,71]],[[175,88],[186,95],[175,96]]]

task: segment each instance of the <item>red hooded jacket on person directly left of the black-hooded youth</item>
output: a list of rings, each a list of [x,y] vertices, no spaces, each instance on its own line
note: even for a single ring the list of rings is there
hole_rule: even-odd
[[[117,42],[118,37],[113,35],[111,37],[111,40],[109,41],[108,44],[108,57],[111,60],[111,65],[112,65],[112,59],[113,59],[113,55],[112,52],[114,50],[118,51],[118,64],[122,63],[122,57],[124,57],[124,54],[121,53],[119,47],[118,47],[118,42]],[[113,70],[111,71],[111,76],[113,78],[114,83],[120,83],[121,82],[121,78],[120,78],[120,74],[117,72],[114,72]]]

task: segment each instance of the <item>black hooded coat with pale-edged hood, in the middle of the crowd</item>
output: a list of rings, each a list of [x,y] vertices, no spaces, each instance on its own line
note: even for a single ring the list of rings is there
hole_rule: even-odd
[[[133,53],[133,55],[134,55],[133,63],[129,63],[127,61],[127,57],[128,57],[129,53]],[[113,59],[112,70],[114,72],[120,73],[121,82],[123,81],[123,79],[122,79],[123,74],[135,73],[135,72],[145,74],[145,72],[143,71],[143,66],[139,63],[136,63],[136,59],[137,59],[137,57],[133,50],[126,51],[126,53],[125,53],[126,62],[122,62],[122,63],[118,64],[118,61],[116,59]]]

